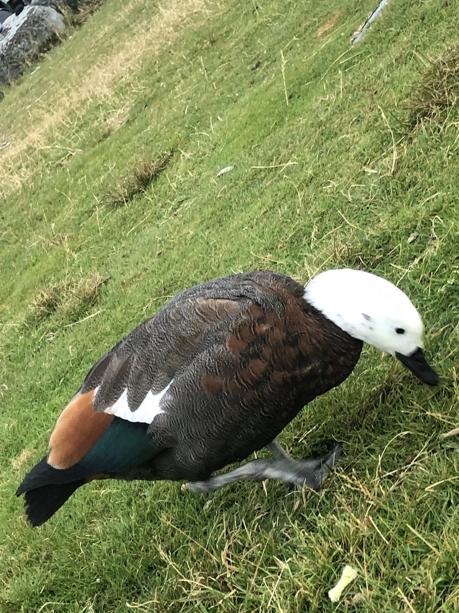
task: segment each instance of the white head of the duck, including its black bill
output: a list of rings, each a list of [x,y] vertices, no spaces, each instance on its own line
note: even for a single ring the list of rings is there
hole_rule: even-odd
[[[362,270],[327,270],[307,284],[304,297],[351,337],[397,357],[425,383],[438,383],[422,352],[419,313],[390,281]]]

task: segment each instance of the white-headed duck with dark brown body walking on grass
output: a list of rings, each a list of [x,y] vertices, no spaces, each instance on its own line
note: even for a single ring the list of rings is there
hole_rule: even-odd
[[[303,287],[269,270],[177,294],[89,371],[26,475],[32,525],[92,479],[171,479],[209,492],[239,479],[319,489],[340,445],[297,461],[275,437],[316,396],[348,377],[362,341],[429,385],[423,326],[408,297],[359,270],[329,270]],[[267,447],[256,459],[212,475]]]

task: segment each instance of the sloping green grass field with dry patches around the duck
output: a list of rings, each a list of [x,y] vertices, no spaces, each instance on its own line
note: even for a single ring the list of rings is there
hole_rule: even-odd
[[[392,0],[351,45],[373,1],[111,0],[4,91],[2,613],[458,611],[454,4]],[[93,482],[28,527],[14,492],[62,407],[168,297],[344,266],[410,295],[441,383],[365,348],[280,436],[345,441],[323,492]]]

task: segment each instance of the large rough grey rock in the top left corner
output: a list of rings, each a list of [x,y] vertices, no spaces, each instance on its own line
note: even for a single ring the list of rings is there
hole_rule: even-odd
[[[12,15],[0,32],[0,82],[19,77],[54,32],[64,32],[62,15],[47,6],[26,6],[20,15]]]

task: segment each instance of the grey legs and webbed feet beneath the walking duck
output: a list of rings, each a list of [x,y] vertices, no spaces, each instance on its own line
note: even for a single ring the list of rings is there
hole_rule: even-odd
[[[279,451],[279,447],[283,453]],[[278,479],[279,481],[292,483],[300,489],[307,485],[310,489],[318,490],[325,481],[330,468],[337,464],[342,452],[341,443],[337,443],[329,453],[321,458],[298,461],[289,457],[277,441],[270,443],[267,448],[273,455],[277,454],[281,457],[277,457],[275,460],[264,458],[252,460],[252,462],[247,462],[247,464],[238,466],[227,473],[209,477],[207,481],[189,482],[187,484],[188,489],[192,492],[214,492],[223,485],[229,485],[235,481]],[[273,449],[274,451],[272,451]]]

